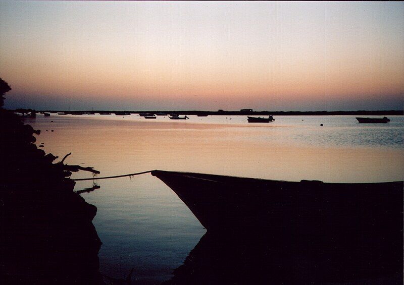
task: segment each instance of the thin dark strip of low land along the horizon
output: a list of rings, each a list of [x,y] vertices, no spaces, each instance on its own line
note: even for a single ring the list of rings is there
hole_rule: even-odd
[[[156,114],[157,116],[167,116],[170,114],[176,115],[195,115],[195,116],[341,116],[341,115],[360,115],[360,116],[403,116],[404,110],[357,110],[357,111],[234,111],[234,110],[218,110],[218,111],[203,111],[203,110],[146,110],[146,111],[129,111],[129,110],[35,110],[35,109],[10,109],[13,112],[26,113],[31,112],[46,112],[46,113],[63,113],[64,115],[100,115],[115,114],[118,116],[131,114]]]

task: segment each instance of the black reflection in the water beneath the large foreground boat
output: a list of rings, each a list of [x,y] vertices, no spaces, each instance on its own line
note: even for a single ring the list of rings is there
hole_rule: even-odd
[[[397,246],[400,250],[400,246]],[[273,233],[205,234],[163,284],[399,284],[401,260],[367,259],[356,246],[334,248]],[[387,267],[385,267],[387,266]]]

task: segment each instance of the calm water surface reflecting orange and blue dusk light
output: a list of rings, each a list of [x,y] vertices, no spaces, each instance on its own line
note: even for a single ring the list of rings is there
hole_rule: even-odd
[[[355,116],[277,116],[269,124],[247,124],[245,116],[188,117],[38,115],[26,122],[42,130],[37,145],[44,143],[46,152],[72,152],[67,163],[94,166],[100,176],[163,169],[289,181],[404,178],[403,116],[391,116],[389,124],[358,124]],[[125,278],[134,268],[138,283],[169,279],[206,230],[149,174],[97,184],[99,190],[82,196],[98,208],[100,271]],[[75,189],[91,186],[78,182]]]

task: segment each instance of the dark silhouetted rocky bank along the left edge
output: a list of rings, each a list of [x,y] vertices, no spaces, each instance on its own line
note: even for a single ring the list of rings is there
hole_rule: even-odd
[[[0,107],[11,90],[0,79]],[[0,108],[0,283],[97,284],[96,207],[73,192],[77,167],[38,149],[29,125]]]

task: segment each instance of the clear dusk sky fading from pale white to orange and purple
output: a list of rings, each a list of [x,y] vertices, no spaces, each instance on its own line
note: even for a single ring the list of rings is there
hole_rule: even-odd
[[[0,2],[8,108],[402,109],[404,3]]]

